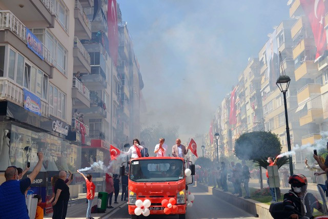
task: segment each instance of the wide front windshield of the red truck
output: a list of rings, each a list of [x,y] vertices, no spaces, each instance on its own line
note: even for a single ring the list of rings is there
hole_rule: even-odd
[[[183,178],[181,160],[140,160],[130,165],[130,180],[135,182],[167,182]]]

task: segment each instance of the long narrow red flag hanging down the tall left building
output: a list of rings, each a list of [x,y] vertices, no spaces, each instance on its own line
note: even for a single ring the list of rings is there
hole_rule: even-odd
[[[116,0],[108,1],[107,10],[108,41],[109,52],[114,65],[117,66],[118,58],[118,26],[117,26],[117,6]]]

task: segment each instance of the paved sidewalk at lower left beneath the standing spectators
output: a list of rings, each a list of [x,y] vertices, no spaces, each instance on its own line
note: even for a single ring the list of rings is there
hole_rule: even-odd
[[[118,204],[114,204],[114,195],[112,199],[112,206],[114,208],[107,208],[105,213],[91,213],[91,216],[95,219],[99,219],[101,217],[104,217],[105,215],[109,214],[110,212],[114,211],[116,208],[124,206],[127,202],[126,201],[120,201],[121,193],[119,193],[117,197]],[[98,194],[95,194],[95,198],[93,200],[92,205],[97,205],[97,199]],[[72,203],[68,204],[67,208],[67,215],[66,218],[86,218],[88,204],[86,203],[86,193],[79,193],[78,198],[74,199]],[[44,218],[52,218],[52,213],[49,213],[48,215],[45,215]]]

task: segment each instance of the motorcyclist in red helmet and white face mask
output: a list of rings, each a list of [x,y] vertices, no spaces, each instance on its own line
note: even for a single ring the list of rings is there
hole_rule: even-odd
[[[289,177],[292,189],[283,196],[284,209],[290,213],[290,218],[314,218],[313,208],[323,212],[322,205],[317,198],[306,191],[308,180],[302,174],[294,174]]]

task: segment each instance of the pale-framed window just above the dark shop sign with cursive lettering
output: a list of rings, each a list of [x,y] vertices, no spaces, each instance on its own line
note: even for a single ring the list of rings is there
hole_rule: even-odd
[[[66,94],[52,84],[49,86],[49,106],[50,114],[65,120]]]

